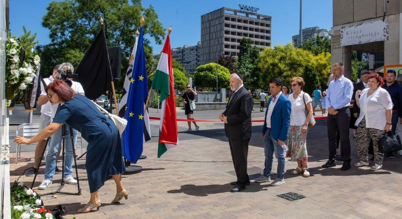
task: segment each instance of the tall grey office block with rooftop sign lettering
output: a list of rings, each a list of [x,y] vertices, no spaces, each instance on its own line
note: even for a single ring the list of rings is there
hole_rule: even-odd
[[[201,16],[200,65],[217,62],[219,55],[238,56],[243,37],[260,51],[271,46],[271,17],[257,14],[255,7],[239,8],[220,8]]]

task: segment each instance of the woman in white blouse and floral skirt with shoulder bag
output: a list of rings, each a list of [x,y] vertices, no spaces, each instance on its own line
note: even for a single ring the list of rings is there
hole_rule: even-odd
[[[288,97],[288,100],[292,104],[292,110],[290,113],[287,144],[289,146],[291,159],[297,160],[297,168],[291,173],[294,175],[303,174],[304,177],[309,177],[306,139],[308,122],[311,116],[313,116],[312,99],[308,93],[302,91],[305,85],[302,77],[293,77],[290,80],[290,85],[293,93]],[[305,112],[306,109],[308,110],[307,116]]]

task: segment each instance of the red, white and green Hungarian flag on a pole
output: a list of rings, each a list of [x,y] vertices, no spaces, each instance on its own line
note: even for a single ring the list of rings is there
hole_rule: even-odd
[[[172,50],[169,35],[166,38],[162,53],[152,81],[152,87],[160,91],[161,104],[159,124],[158,158],[168,149],[179,144],[177,134],[176,102],[172,70]]]

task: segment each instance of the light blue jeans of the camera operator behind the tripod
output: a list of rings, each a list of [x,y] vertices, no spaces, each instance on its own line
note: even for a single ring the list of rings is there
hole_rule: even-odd
[[[56,133],[54,133],[51,136],[51,139],[49,141],[49,149],[46,155],[46,167],[45,167],[45,179],[46,180],[53,180],[53,175],[55,175],[55,169],[56,169],[56,159],[57,159],[57,153],[58,153],[58,148],[62,146],[62,136],[61,136],[61,129],[59,128]],[[74,146],[77,145],[77,134],[78,131],[73,129],[73,139],[74,139]],[[73,162],[74,162],[74,157],[73,157],[73,146],[71,144],[70,140],[70,130],[69,126],[67,126],[67,136],[66,136],[66,146],[65,146],[65,159],[64,159],[64,174],[63,177],[66,178],[68,176],[71,176],[72,169],[73,169]]]

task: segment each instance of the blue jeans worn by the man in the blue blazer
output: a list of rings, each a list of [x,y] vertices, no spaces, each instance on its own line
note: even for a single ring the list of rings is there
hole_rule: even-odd
[[[264,175],[266,177],[269,177],[271,175],[274,152],[276,159],[278,159],[277,178],[284,179],[286,151],[282,148],[282,146],[279,146],[278,141],[272,137],[271,129],[267,128],[264,137],[264,154],[265,154]]]

